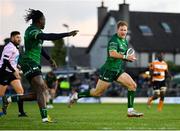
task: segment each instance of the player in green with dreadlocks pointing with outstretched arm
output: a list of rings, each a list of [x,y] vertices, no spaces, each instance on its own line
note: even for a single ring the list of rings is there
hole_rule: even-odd
[[[41,73],[41,55],[45,57],[53,67],[55,67],[56,64],[54,60],[51,59],[43,50],[42,44],[44,40],[58,40],[62,39],[63,37],[75,36],[78,31],[74,30],[71,32],[60,34],[43,33],[42,29],[44,29],[45,27],[45,17],[44,14],[39,10],[29,9],[25,16],[25,20],[26,22],[32,20],[32,24],[25,31],[25,52],[20,57],[20,66],[24,76],[29,81],[34,92],[28,95],[14,96],[11,97],[11,99],[12,101],[27,101],[37,99],[42,122],[52,122],[47,115],[45,96],[46,84]],[[7,98],[7,102],[10,101],[9,99],[10,98]]]

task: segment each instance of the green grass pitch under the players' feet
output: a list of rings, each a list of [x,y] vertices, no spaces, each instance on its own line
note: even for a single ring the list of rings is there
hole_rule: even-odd
[[[0,117],[0,129],[31,130],[130,130],[130,129],[180,129],[180,105],[165,105],[162,112],[157,105],[147,109],[145,104],[136,104],[144,117],[128,118],[126,104],[77,104],[67,108],[66,104],[55,104],[49,110],[57,123],[41,122],[35,102],[25,103],[29,117],[17,117],[17,105],[11,104],[6,116]]]

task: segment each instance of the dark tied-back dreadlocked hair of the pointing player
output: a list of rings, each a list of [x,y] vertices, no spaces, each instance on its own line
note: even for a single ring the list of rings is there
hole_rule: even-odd
[[[28,22],[32,19],[32,23],[36,23],[43,15],[39,10],[29,9],[25,15],[25,21]]]

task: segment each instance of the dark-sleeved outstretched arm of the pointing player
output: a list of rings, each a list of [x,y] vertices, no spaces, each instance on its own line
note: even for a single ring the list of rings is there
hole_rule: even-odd
[[[41,39],[41,40],[59,40],[62,39],[64,37],[68,37],[68,36],[75,36],[78,33],[78,30],[74,30],[68,33],[40,33],[37,35],[37,39]]]

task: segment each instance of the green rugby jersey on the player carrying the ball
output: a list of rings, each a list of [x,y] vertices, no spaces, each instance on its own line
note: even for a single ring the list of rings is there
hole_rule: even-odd
[[[126,39],[120,38],[117,34],[114,34],[107,46],[107,59],[105,64],[102,66],[105,69],[112,71],[121,71],[124,69],[125,61],[118,58],[109,56],[109,51],[115,50],[118,53],[125,54],[128,49],[128,43]]]

